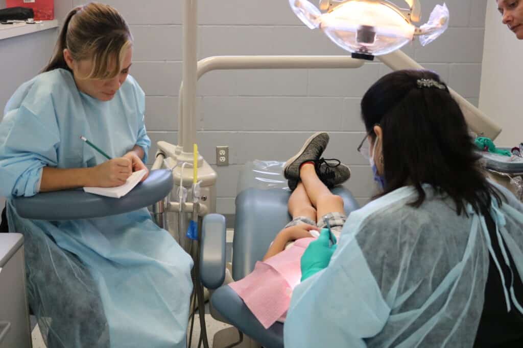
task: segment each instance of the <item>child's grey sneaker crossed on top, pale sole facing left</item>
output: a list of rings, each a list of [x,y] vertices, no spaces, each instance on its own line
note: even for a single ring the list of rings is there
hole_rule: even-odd
[[[300,178],[300,166],[304,162],[319,160],[327,147],[329,136],[324,131],[313,134],[305,141],[301,150],[290,158],[283,166],[283,176],[286,179],[298,180]]]

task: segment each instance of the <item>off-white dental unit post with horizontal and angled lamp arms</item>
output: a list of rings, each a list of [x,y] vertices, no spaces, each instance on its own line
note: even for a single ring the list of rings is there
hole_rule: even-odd
[[[306,0],[290,0],[292,4],[297,5]],[[332,11],[338,6],[345,5],[349,2],[382,4],[390,7],[395,5],[384,0],[321,0],[320,9]],[[403,17],[410,20],[418,21],[420,17],[420,4],[418,0],[406,0],[410,6],[409,9],[397,9]],[[313,5],[312,5],[313,6]],[[314,7],[314,6],[313,6]],[[309,7],[310,8],[310,7]],[[315,7],[314,7],[315,8]],[[319,9],[312,9],[316,15],[321,12]],[[178,143],[172,145],[165,141],[158,142],[158,153],[152,169],[159,169],[164,164],[173,169],[175,179],[175,189],[173,197],[177,197],[176,185],[183,181],[184,186],[189,189],[192,184],[192,164],[194,161],[193,145],[196,143],[196,87],[198,79],[212,70],[237,70],[237,69],[332,69],[332,68],[358,68],[365,64],[365,60],[351,58],[350,56],[215,56],[207,57],[198,61],[197,59],[197,0],[184,0],[184,44],[183,44],[183,83],[180,86],[179,105],[178,105]],[[300,16],[299,16],[300,17]],[[300,19],[302,19],[300,17]],[[302,19],[303,20],[303,19]],[[309,25],[308,25],[309,26]],[[311,26],[309,26],[311,28]],[[312,26],[314,27],[314,26]],[[319,25],[316,26],[316,28]],[[423,28],[423,27],[422,27]],[[312,28],[311,28],[312,29]],[[322,28],[323,29],[323,28]],[[354,29],[354,28],[353,28]],[[373,27],[373,29],[375,29]],[[417,31],[416,31],[417,30]],[[427,31],[421,32],[416,28],[413,35],[427,34]],[[378,35],[378,31],[374,32]],[[331,38],[332,39],[332,38]],[[333,40],[334,41],[334,40]],[[338,44],[338,43],[337,43]],[[338,44],[339,45],[339,44]],[[344,47],[345,48],[345,47]],[[400,69],[423,69],[412,58],[399,50],[392,51],[384,55],[376,55],[381,62],[392,70]],[[501,133],[501,127],[483,114],[477,107],[465,100],[461,95],[450,90],[454,99],[457,100],[464,113],[465,119],[474,133],[495,139]],[[183,170],[182,163],[189,163],[187,169]],[[198,213],[200,217],[216,210],[216,188],[217,173],[201,157],[198,156],[198,181],[201,182],[201,193]],[[179,243],[187,251],[187,239],[185,230],[189,220],[189,213],[192,212],[192,200],[189,202],[170,201],[167,197],[164,201],[158,202],[153,207],[156,222],[164,226],[173,236],[178,235]],[[178,231],[174,232],[169,229],[167,212],[179,212]],[[174,227],[176,230],[176,227]]]

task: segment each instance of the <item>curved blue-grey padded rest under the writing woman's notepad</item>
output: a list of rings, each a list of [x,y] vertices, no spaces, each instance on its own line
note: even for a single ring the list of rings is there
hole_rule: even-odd
[[[40,193],[16,197],[13,203],[22,218],[33,220],[77,220],[122,214],[165,198],[173,189],[174,179],[167,169],[151,171],[149,177],[122,198],[88,194],[83,189]]]

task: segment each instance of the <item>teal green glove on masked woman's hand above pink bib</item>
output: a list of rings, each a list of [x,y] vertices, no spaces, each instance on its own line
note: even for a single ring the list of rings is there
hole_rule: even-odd
[[[334,245],[331,245],[331,236]],[[301,281],[327,268],[336,250],[336,237],[328,229],[322,229],[320,237],[311,242],[301,257]]]

